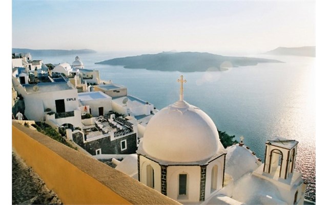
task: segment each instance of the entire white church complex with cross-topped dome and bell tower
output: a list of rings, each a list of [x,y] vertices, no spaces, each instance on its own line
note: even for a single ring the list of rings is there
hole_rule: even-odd
[[[183,100],[183,76],[178,82],[180,99],[150,119],[137,163],[129,170],[122,160],[121,171],[181,203],[303,204],[306,185],[294,171],[297,141],[268,140],[264,163],[242,140],[224,149],[213,120]]]

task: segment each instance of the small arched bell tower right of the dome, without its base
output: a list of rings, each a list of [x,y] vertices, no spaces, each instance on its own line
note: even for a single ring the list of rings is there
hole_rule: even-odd
[[[294,172],[298,141],[274,137],[265,142],[263,172],[287,179]]]

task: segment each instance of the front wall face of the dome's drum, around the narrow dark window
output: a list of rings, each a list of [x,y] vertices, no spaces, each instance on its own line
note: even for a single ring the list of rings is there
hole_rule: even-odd
[[[179,198],[179,174],[187,173],[187,198]],[[200,166],[169,166],[167,169],[168,197],[184,202],[199,202]]]

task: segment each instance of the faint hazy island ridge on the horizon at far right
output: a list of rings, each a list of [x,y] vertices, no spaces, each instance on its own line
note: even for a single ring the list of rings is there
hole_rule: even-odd
[[[315,46],[304,46],[304,47],[297,47],[297,48],[278,47],[274,50],[266,52],[265,54],[315,57],[316,47]]]

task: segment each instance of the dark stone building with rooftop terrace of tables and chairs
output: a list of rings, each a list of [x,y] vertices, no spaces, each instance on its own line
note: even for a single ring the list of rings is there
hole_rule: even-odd
[[[92,124],[83,131],[67,130],[67,137],[91,155],[108,157],[133,154],[138,141],[136,127],[122,116],[93,117]]]

